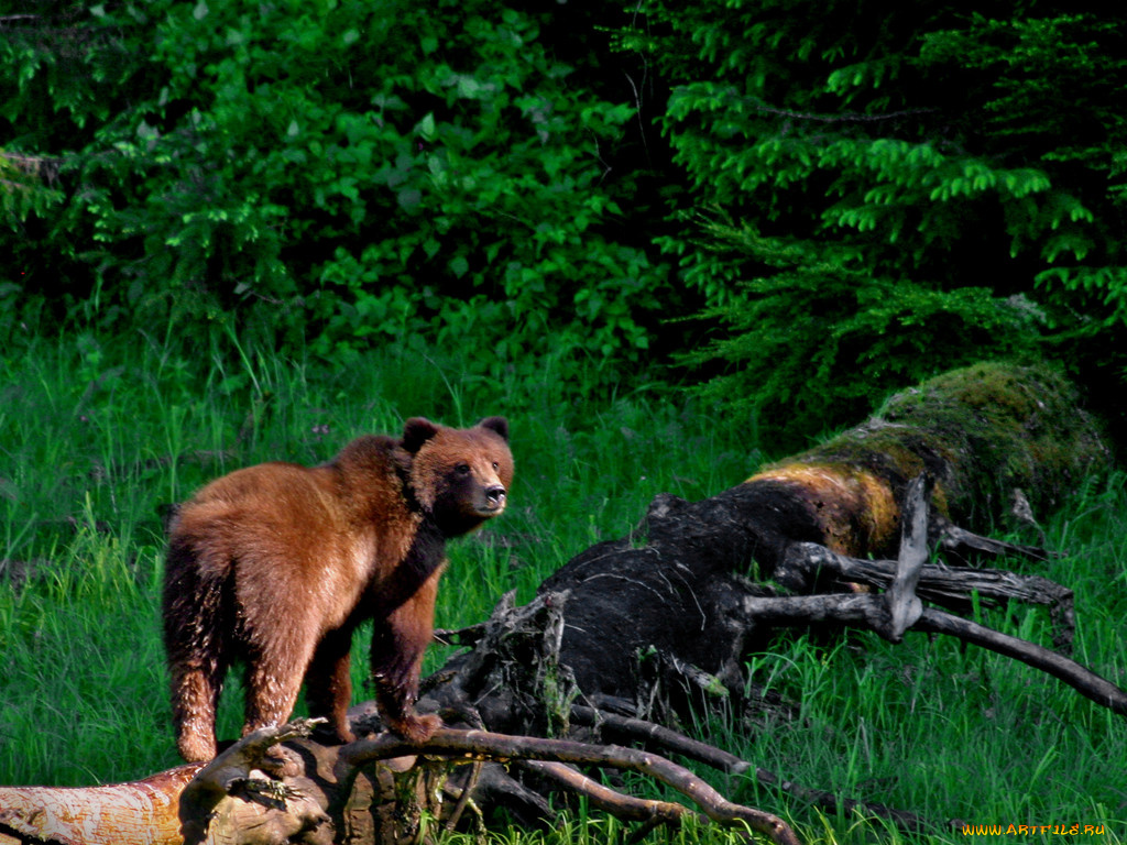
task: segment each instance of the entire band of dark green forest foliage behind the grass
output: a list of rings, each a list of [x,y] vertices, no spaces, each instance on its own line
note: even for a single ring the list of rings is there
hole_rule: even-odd
[[[791,439],[975,359],[1121,381],[1125,24],[16,0],[0,303],[338,363],[469,345],[573,395],[687,350],[666,374]]]

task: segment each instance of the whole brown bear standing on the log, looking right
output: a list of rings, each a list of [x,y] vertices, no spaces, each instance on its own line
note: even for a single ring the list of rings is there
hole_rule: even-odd
[[[302,679],[313,715],[353,738],[348,651],[374,620],[372,676],[388,726],[423,742],[419,667],[434,625],[447,537],[505,509],[513,479],[508,422],[447,428],[415,417],[402,439],[366,436],[329,463],[265,463],[224,475],[169,526],[165,647],[177,746],[215,756],[215,708],[245,662],[243,735],[290,718]]]

